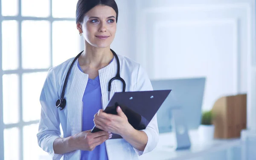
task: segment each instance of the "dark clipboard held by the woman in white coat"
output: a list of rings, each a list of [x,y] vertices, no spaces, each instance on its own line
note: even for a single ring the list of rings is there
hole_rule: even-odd
[[[116,108],[120,106],[131,126],[137,130],[143,130],[148,126],[148,123],[152,120],[171,91],[116,92],[103,112],[117,114]],[[91,132],[94,133],[97,131],[102,130],[94,126]],[[119,138],[122,138],[119,134],[113,134],[111,139]]]

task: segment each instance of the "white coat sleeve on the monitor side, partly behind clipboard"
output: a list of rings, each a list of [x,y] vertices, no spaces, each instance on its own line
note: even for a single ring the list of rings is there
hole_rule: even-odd
[[[148,77],[148,74],[146,71],[140,66],[138,69],[137,74],[137,84],[135,91],[152,91],[152,85],[150,82],[150,79]],[[136,153],[140,156],[142,154],[148,153],[152,151],[158,143],[159,140],[159,131],[157,126],[157,114],[154,115],[150,123],[148,123],[148,126],[146,129],[143,129],[141,131],[144,131],[148,136],[148,142],[146,144],[146,147],[144,151],[139,151],[134,148]]]

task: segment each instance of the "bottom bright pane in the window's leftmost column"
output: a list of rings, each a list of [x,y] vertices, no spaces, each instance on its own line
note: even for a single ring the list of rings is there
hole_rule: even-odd
[[[4,160],[20,160],[20,131],[18,128],[5,129],[3,131],[4,140]]]

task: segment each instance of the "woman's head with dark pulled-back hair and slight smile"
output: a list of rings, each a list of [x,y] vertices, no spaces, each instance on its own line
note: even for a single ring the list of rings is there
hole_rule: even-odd
[[[80,2],[85,3],[85,1]],[[85,42],[97,48],[110,46],[116,34],[118,18],[118,9],[114,4],[112,1],[105,1],[104,5],[97,5],[93,9],[90,9],[90,5],[87,9],[82,7],[84,5],[78,5],[76,24],[79,33],[83,33]]]

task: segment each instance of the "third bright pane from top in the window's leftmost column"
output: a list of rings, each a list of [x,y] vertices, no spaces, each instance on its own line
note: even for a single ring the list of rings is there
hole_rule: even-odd
[[[3,123],[19,122],[19,80],[17,74],[3,75]]]

